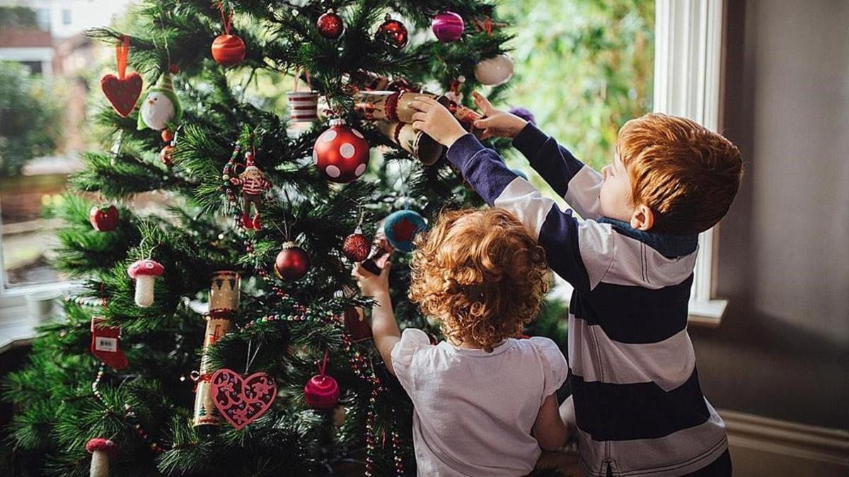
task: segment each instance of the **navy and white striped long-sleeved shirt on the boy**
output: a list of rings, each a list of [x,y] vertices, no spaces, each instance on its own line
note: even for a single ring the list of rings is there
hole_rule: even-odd
[[[535,126],[514,146],[585,220],[560,210],[471,134],[448,159],[487,204],[519,217],[548,266],[575,287],[569,367],[583,471],[666,476],[712,463],[728,439],[702,396],[687,334],[695,237],[673,236],[667,247],[663,236],[600,216],[599,173]]]

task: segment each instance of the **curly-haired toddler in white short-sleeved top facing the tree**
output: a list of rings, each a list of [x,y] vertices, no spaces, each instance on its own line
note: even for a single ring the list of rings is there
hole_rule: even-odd
[[[425,238],[426,237],[426,238]],[[447,341],[398,331],[389,265],[354,269],[374,297],[374,345],[413,401],[419,475],[526,475],[540,447],[563,445],[554,392],[566,379],[552,340],[517,340],[547,289],[545,254],[508,211],[443,212],[413,254],[410,300]]]

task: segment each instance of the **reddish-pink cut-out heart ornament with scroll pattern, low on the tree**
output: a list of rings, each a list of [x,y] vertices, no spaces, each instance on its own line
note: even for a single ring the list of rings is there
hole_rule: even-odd
[[[212,375],[210,384],[212,402],[236,429],[254,422],[277,397],[277,383],[266,373],[253,373],[243,379],[232,369],[222,368]]]

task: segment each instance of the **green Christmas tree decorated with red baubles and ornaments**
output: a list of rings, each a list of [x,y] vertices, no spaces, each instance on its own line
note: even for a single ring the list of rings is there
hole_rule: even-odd
[[[481,201],[408,102],[431,94],[471,131],[470,92],[498,98],[512,71],[505,25],[472,0],[145,0],[126,23],[90,32],[116,49],[95,116],[111,145],[50,210],[55,266],[83,287],[4,383],[0,463],[415,474],[412,408],[350,271],[396,250],[396,315],[438,339],[406,300],[407,252]],[[287,108],[260,78],[291,85]],[[139,209],[149,193],[167,206]]]

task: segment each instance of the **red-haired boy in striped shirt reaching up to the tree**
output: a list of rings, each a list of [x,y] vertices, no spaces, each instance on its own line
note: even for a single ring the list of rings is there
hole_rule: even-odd
[[[575,287],[569,365],[584,472],[730,475],[724,424],[701,394],[687,306],[698,233],[737,193],[739,150],[693,121],[649,114],[622,126],[599,174],[478,93],[475,104],[484,136],[512,137],[585,219],[517,177],[436,101],[413,102],[413,126],[447,145],[478,194],[518,216]]]

